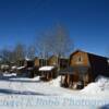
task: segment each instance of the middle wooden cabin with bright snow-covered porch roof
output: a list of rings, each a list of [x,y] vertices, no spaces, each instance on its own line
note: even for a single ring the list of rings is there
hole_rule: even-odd
[[[51,56],[47,61],[47,65],[44,65],[39,69],[43,76],[41,80],[50,81],[52,78],[56,78],[59,75],[59,70],[66,66],[68,66],[68,59],[65,58],[59,59],[57,56]]]

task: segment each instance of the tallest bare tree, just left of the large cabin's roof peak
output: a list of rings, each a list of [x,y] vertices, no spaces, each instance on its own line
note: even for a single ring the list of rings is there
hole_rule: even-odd
[[[58,57],[65,57],[73,50],[73,41],[69,35],[69,31],[64,25],[57,25],[53,31],[53,52]]]

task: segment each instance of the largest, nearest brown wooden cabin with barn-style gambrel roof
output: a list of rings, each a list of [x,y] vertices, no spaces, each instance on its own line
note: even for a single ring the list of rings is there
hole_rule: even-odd
[[[76,50],[70,56],[69,68],[60,73],[62,86],[83,88],[98,75],[109,76],[108,58]]]

